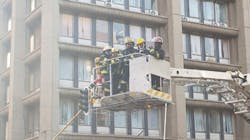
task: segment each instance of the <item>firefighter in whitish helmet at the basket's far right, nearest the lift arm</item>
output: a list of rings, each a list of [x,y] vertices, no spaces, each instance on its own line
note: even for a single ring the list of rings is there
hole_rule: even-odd
[[[165,51],[162,49],[163,39],[160,36],[154,37],[151,42],[154,46],[149,50],[150,55],[154,56],[156,59],[164,59]]]

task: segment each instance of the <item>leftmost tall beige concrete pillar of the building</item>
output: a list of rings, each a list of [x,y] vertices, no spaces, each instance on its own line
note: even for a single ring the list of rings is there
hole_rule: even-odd
[[[11,69],[10,69],[10,104],[9,104],[9,140],[24,139],[23,103],[25,95],[23,82],[25,54],[25,2],[12,1],[11,32]]]

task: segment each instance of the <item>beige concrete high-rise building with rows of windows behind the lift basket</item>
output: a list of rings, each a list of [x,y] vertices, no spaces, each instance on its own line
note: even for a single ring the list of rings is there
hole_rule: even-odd
[[[172,67],[250,73],[249,0],[0,0],[0,139],[50,140],[78,111],[102,47],[164,39]],[[164,70],[164,68],[162,68]],[[249,140],[205,87],[173,87],[167,139]],[[164,106],[81,115],[61,140],[160,140]]]

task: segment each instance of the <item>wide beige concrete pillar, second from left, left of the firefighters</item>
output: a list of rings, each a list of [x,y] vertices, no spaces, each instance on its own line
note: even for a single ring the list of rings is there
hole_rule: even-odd
[[[42,0],[40,139],[51,139],[59,128],[59,0]]]

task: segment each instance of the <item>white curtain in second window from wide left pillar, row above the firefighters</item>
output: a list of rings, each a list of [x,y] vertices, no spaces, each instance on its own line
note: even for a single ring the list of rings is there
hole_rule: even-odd
[[[78,34],[81,39],[91,39],[91,19],[86,17],[79,17]]]

